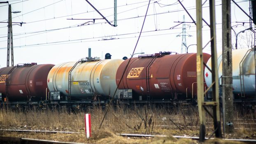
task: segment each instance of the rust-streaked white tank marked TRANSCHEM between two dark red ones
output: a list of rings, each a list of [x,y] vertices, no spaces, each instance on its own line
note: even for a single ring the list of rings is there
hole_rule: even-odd
[[[59,91],[65,100],[68,95],[71,100],[109,98],[116,90],[116,71],[122,62],[121,59],[81,59],[55,65],[47,77],[49,91],[51,94]]]

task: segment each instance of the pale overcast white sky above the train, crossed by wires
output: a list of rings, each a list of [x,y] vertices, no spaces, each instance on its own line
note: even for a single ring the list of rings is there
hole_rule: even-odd
[[[105,18],[114,24],[114,0],[88,0]],[[205,0],[203,0],[204,2]],[[0,0],[0,2],[5,2]],[[181,0],[196,20],[195,0]],[[248,0],[235,0],[249,14]],[[117,26],[113,27],[86,0],[9,0],[14,25],[14,65],[18,63],[58,64],[88,57],[128,58],[140,35],[149,1],[117,0]],[[221,52],[221,0],[216,5],[217,51]],[[196,52],[196,27],[177,0],[150,1],[147,17],[135,53],[153,54],[159,51],[182,53],[182,27],[185,18],[186,45]],[[0,4],[0,22],[7,22],[8,5]],[[73,20],[69,20],[73,19]],[[90,20],[74,20],[90,19]],[[95,22],[93,23],[93,20]],[[203,5],[203,19],[209,22],[209,0]],[[246,22],[244,25],[240,22]],[[249,28],[249,17],[231,2],[231,26],[236,33]],[[85,23],[85,24],[84,24]],[[179,24],[179,25],[178,25]],[[178,25],[178,26],[176,26]],[[209,27],[203,22],[203,46],[210,40]],[[176,26],[176,27],[174,27]],[[174,28],[173,28],[174,27]],[[0,67],[7,65],[7,23],[0,23]],[[240,33],[238,49],[248,48],[251,32]],[[235,34],[232,31],[232,45]],[[210,53],[210,44],[203,50]],[[133,57],[138,56],[138,54]],[[11,62],[10,62],[11,63]]]

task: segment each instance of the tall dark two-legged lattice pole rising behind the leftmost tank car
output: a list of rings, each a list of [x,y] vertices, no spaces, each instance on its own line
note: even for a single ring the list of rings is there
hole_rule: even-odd
[[[11,63],[12,63],[12,67],[13,67],[14,66],[14,58],[13,58],[13,41],[12,41],[12,8],[11,8],[11,5],[9,5],[9,13],[8,13],[7,67],[9,67],[10,49],[11,49]]]

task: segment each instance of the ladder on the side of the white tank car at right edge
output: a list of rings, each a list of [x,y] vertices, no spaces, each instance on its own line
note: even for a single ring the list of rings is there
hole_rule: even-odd
[[[249,55],[251,49],[249,49],[244,57],[242,58],[240,62],[240,86],[241,86],[241,99],[242,99],[242,104],[245,105],[245,93],[244,93],[244,72],[243,72],[243,66],[244,66],[244,60],[247,58]]]

